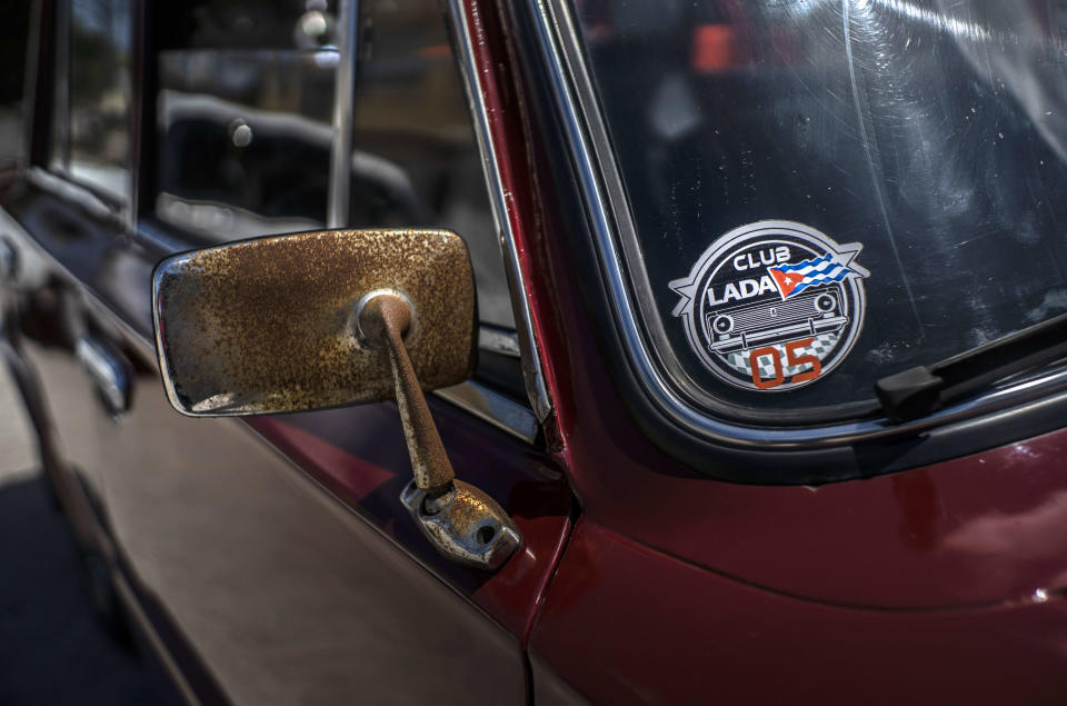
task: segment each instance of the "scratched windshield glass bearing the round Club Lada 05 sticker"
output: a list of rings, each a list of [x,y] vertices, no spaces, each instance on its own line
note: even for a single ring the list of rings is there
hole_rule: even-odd
[[[847,416],[885,375],[1067,310],[1067,3],[575,16],[634,220],[627,269],[654,302],[640,320],[698,399]]]

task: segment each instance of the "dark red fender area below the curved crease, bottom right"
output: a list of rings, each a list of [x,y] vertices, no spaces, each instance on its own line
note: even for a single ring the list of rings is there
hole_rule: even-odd
[[[1067,703],[1060,596],[841,608],[754,589],[585,520],[531,649],[598,704]]]

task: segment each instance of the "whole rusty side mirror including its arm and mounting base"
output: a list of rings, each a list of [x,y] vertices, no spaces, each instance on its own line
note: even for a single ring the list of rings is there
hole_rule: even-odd
[[[152,276],[163,386],[195,417],[396,399],[415,478],[401,495],[446,557],[497,568],[521,538],[455,479],[423,390],[467,379],[475,282],[445,230],[331,230],[176,255]]]

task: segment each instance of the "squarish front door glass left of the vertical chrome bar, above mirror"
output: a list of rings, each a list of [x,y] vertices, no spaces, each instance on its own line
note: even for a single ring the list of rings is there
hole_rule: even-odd
[[[163,3],[156,215],[213,240],[326,223],[333,2]]]

